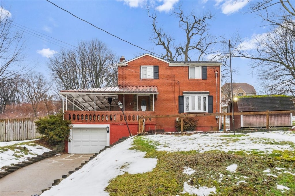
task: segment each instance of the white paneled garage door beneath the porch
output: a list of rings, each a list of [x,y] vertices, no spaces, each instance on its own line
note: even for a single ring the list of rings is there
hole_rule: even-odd
[[[106,129],[74,128],[73,153],[96,153],[106,146]]]

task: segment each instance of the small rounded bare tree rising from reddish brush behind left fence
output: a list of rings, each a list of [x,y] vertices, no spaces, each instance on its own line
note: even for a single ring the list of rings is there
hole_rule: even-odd
[[[38,104],[44,100],[49,89],[49,83],[42,74],[32,72],[25,76],[22,92],[25,102],[31,104],[35,117],[37,116]]]

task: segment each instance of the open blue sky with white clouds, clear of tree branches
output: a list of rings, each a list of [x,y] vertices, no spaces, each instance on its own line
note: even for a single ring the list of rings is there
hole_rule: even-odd
[[[120,0],[120,1],[52,1],[76,16],[104,29],[124,40],[144,49],[160,54],[150,41],[152,21],[148,17],[146,5],[157,11],[158,25],[169,31],[175,38],[182,40],[183,34],[178,28],[178,21],[171,13],[181,4],[183,9],[196,15],[211,11],[214,19],[211,32],[226,39],[239,31],[245,44],[253,37],[263,34],[266,28],[260,27],[261,19],[255,14],[246,14],[248,0]],[[132,59],[146,51],[127,44],[95,27],[81,21],[45,0],[40,1],[1,1],[1,6],[8,10],[15,30],[23,30],[27,58],[25,62],[36,64],[35,71],[48,75],[46,62],[48,57],[59,52],[61,47],[72,49],[79,41],[98,39],[104,42],[118,57],[124,55]],[[37,36],[36,34],[40,35]],[[51,37],[51,38],[50,38]],[[54,39],[53,39],[54,38]],[[57,40],[60,41],[57,41]],[[61,42],[62,41],[62,42]],[[67,44],[65,44],[65,43]],[[70,44],[70,45],[68,45]],[[196,59],[192,59],[196,60]],[[233,74],[235,82],[246,82],[259,92],[258,78],[251,74],[249,61],[242,58],[232,59],[232,67],[238,69]]]

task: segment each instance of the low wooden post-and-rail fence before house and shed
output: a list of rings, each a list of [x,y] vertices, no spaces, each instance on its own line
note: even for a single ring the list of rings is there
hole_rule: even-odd
[[[257,117],[259,119],[262,119],[263,126],[266,127],[266,129],[269,129],[270,127],[270,119],[273,120],[274,114],[295,114],[295,110],[284,110],[284,111],[263,111],[263,112],[234,112],[234,119],[237,121],[237,119],[240,120],[241,115],[245,115],[248,117],[251,117],[253,121],[257,121]],[[270,117],[272,115],[272,118]],[[224,126],[226,122],[226,117],[230,116],[230,119],[232,119],[232,112],[223,112],[223,113],[198,113],[198,114],[173,114],[173,115],[146,115],[146,116],[139,116],[138,118],[138,132],[144,133],[146,130],[145,124],[151,121],[155,121],[157,123],[156,119],[165,119],[164,121],[166,124],[169,124],[169,121],[176,121],[176,118],[178,118],[181,122],[181,132],[183,130],[183,117],[206,117],[206,116],[215,116],[215,118],[220,119]],[[254,118],[253,118],[254,116]],[[291,119],[292,120],[292,119]],[[290,126],[291,126],[291,121]],[[173,124],[173,123],[172,123]]]

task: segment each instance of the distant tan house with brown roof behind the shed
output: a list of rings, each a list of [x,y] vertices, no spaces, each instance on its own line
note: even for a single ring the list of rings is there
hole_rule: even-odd
[[[247,83],[232,83],[232,94],[233,94],[233,97],[251,96],[251,95],[256,95],[256,90],[252,85]],[[231,84],[225,83],[221,87],[221,99],[222,100],[230,99],[232,94],[231,94]]]

